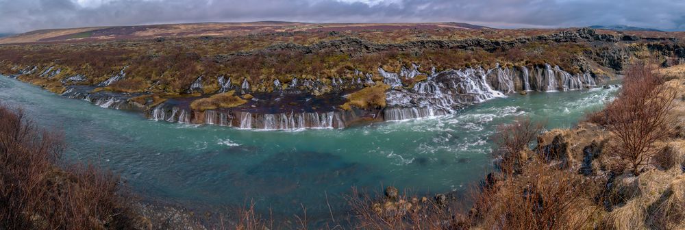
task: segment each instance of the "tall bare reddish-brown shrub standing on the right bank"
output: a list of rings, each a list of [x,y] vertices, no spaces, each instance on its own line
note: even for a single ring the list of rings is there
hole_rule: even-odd
[[[664,85],[660,75],[647,64],[631,66],[625,75],[623,89],[604,111],[608,130],[616,138],[616,154],[638,168],[653,164],[655,142],[671,135],[673,109],[677,90]]]

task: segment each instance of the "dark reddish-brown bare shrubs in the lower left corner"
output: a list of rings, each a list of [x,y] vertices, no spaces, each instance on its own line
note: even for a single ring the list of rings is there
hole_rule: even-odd
[[[23,111],[0,106],[0,228],[101,229],[126,225],[119,177],[83,164],[59,169],[63,142]],[[124,226],[125,227],[125,226]]]

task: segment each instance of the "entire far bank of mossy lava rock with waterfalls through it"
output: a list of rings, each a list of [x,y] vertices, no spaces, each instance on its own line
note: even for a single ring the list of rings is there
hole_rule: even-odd
[[[171,70],[152,71],[152,77],[141,77],[142,67],[126,62],[124,58],[120,60],[122,63],[114,65],[119,66],[116,71],[98,76],[94,67],[88,67],[87,60],[87,68],[79,71],[81,67],[75,67],[80,62],[77,60],[73,61],[75,64],[40,59],[30,63],[26,61],[30,58],[11,56],[30,53],[34,48],[29,45],[0,47],[12,51],[0,54],[0,71],[101,107],[144,112],[153,120],[241,129],[308,129],[444,116],[467,105],[516,92],[597,87],[620,74],[624,66],[635,59],[660,59],[669,63],[685,59],[685,48],[677,38],[616,34],[586,28],[512,39],[431,38],[399,43],[377,42],[354,35],[336,34],[339,39],[313,44],[277,43],[262,49],[225,54],[177,53],[176,60],[191,66],[186,72],[197,72],[197,68],[192,67],[193,62],[206,69],[202,74],[190,77],[180,75],[181,69],[174,71],[178,68],[174,65],[181,65],[176,62],[169,62]],[[218,41],[207,38],[201,42],[233,44],[234,40],[239,37]],[[140,42],[154,46],[169,40]],[[90,47],[112,45],[120,44],[94,43]],[[132,46],[130,43],[125,45]],[[95,49],[90,47],[83,49]],[[153,60],[152,64],[159,64],[154,60],[161,58],[157,55],[144,57],[142,61]],[[304,67],[293,67],[292,63],[283,60],[287,58],[303,58]],[[247,68],[245,65],[250,62],[262,64],[260,76],[240,77],[238,74],[243,72],[230,71]],[[323,63],[323,67],[315,62]],[[377,64],[374,66],[374,63]],[[275,71],[273,65],[282,69]],[[224,68],[229,70],[221,71]],[[216,73],[210,72],[214,69]],[[158,74],[162,77],[155,77]],[[179,80],[179,77],[185,80]],[[342,106],[350,94],[381,83],[390,86],[384,95],[384,106]],[[190,107],[192,101],[229,90],[234,90],[237,97],[247,103],[201,111]]]

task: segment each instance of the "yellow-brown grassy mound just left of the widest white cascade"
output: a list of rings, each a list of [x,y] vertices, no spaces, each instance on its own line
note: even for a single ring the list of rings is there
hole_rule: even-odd
[[[375,86],[366,87],[347,96],[345,104],[340,105],[344,110],[351,110],[352,107],[361,109],[379,109],[386,106],[385,91],[390,86],[382,82],[376,82]]]

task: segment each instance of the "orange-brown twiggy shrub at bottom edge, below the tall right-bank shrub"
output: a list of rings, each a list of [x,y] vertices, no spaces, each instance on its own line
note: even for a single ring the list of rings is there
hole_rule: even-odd
[[[534,160],[521,175],[475,192],[471,223],[484,229],[591,229],[600,186]]]

